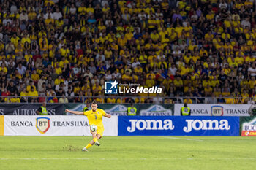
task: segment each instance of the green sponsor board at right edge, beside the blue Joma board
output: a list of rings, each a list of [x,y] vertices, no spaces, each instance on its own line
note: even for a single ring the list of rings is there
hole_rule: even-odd
[[[240,117],[240,134],[242,131],[256,131],[256,116]]]

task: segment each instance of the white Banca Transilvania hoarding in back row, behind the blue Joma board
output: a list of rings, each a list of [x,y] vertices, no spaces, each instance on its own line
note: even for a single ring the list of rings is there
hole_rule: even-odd
[[[181,115],[184,104],[174,105],[174,115]],[[192,116],[249,116],[251,104],[188,104]]]

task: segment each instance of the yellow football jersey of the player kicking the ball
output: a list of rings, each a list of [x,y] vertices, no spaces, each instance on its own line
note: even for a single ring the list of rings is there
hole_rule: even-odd
[[[97,125],[99,128],[104,128],[102,123],[102,117],[106,115],[106,112],[102,109],[97,109],[96,112],[93,112],[92,109],[88,110],[86,112],[83,112],[83,115],[87,116],[87,119],[89,121],[89,125]]]

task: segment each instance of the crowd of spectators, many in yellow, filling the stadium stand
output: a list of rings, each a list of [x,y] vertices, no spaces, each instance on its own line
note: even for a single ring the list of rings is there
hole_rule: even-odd
[[[2,0],[1,101],[129,102],[102,98],[118,80],[163,89],[135,102],[247,103],[255,15],[253,0]]]

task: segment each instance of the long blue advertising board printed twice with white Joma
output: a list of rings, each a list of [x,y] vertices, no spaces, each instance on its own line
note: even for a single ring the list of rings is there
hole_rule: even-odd
[[[118,117],[118,136],[238,135],[239,117]]]

